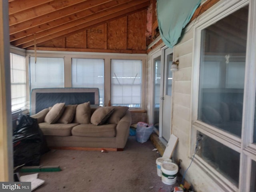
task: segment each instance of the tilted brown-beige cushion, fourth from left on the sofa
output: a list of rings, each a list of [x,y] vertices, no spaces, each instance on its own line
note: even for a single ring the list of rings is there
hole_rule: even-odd
[[[99,107],[97,108],[91,117],[91,123],[94,125],[102,125],[110,117],[114,107]]]

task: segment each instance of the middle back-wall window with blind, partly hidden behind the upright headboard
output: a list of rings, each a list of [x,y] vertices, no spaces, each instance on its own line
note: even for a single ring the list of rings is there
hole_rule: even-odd
[[[103,106],[104,60],[72,58],[72,87],[99,88],[100,106]]]

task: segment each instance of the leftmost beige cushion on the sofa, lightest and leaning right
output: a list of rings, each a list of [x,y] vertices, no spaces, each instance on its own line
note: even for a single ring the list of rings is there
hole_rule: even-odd
[[[56,103],[51,110],[46,114],[44,122],[54,124],[58,121],[65,109],[65,103]]]

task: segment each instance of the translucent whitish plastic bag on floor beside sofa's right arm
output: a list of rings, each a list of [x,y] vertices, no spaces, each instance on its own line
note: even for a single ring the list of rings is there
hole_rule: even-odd
[[[145,122],[138,122],[136,128],[136,139],[140,143],[146,142],[153,132],[153,125],[148,125]]]

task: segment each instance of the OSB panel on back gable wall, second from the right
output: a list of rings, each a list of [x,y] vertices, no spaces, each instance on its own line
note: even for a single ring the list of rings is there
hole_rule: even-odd
[[[121,49],[127,47],[127,17],[108,23],[108,49]]]

